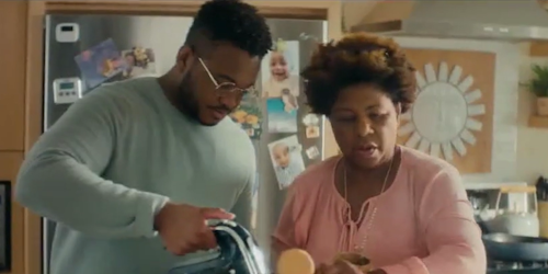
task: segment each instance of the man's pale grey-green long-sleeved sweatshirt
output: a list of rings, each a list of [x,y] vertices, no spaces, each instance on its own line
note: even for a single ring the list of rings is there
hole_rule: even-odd
[[[248,226],[254,174],[253,146],[237,124],[202,126],[156,78],[139,78],[71,105],[27,155],[15,198],[59,224],[52,274],[164,274],[201,254],[163,249],[152,229],[161,206],[221,207]]]

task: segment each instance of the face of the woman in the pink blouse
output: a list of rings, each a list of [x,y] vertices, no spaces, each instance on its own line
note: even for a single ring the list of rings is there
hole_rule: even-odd
[[[399,112],[399,106],[375,85],[355,84],[342,90],[329,117],[342,153],[366,169],[390,159]]]

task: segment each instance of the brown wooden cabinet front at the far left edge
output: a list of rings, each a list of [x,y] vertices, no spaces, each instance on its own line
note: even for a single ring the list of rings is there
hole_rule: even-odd
[[[10,186],[15,183],[24,153],[26,14],[27,1],[0,1],[0,182],[8,182]],[[24,209],[13,199],[3,197],[0,205],[8,205],[11,213],[7,215],[9,225],[0,224],[0,231],[3,228],[11,231],[7,241],[11,246],[7,252],[10,270],[2,273],[23,274]],[[3,232],[0,233],[3,237]],[[0,238],[0,264],[3,263],[3,244]]]

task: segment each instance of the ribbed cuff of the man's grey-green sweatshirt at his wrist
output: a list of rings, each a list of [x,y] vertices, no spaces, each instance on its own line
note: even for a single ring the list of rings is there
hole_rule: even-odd
[[[155,230],[155,217],[169,202],[169,197],[155,193],[142,193],[138,199],[135,218],[135,229],[137,235],[152,238],[158,235]]]

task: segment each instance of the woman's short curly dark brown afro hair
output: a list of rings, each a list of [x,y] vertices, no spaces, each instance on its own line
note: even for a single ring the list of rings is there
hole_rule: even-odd
[[[359,83],[379,88],[407,112],[415,99],[414,68],[391,38],[353,33],[318,45],[301,72],[313,113],[330,115],[341,90]]]

